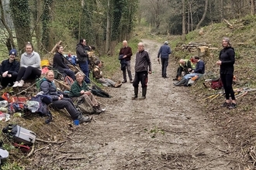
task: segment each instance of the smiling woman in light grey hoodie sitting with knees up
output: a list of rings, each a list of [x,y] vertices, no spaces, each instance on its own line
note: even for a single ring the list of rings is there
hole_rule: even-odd
[[[27,42],[26,52],[22,53],[18,76],[12,87],[22,87],[26,80],[35,80],[40,77],[41,72],[40,56],[33,51],[32,44]]]

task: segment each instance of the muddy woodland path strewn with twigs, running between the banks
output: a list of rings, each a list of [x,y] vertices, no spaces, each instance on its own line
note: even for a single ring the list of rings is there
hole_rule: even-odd
[[[163,79],[157,63],[161,44],[143,41],[154,71],[146,100],[131,100],[131,83],[106,89],[112,98],[98,98],[106,113],[79,125],[50,158],[35,164],[52,169],[238,169],[225,140],[187,92],[189,87],[172,84],[177,64],[169,63],[170,78]],[[121,72],[118,76],[122,80]]]

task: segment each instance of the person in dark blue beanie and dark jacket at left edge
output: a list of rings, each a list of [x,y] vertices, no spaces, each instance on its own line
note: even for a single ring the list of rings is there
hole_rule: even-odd
[[[13,82],[16,81],[19,71],[19,62],[16,61],[17,51],[16,49],[11,49],[9,51],[9,59],[2,61],[0,66],[0,76],[1,76],[1,85],[2,89],[13,85]]]

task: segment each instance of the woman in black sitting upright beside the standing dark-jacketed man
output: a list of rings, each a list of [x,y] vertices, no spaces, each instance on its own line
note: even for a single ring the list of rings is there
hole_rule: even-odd
[[[75,80],[74,72],[67,66],[63,56],[63,46],[57,45],[57,52],[54,54],[54,68],[57,69],[64,77],[70,76]]]

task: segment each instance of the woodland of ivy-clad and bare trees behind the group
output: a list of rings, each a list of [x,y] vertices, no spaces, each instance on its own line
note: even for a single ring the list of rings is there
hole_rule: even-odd
[[[143,26],[157,35],[182,35],[223,19],[254,15],[254,0],[2,0],[2,53],[24,51],[33,42],[40,54],[62,40],[74,51],[87,39],[99,55],[112,54],[116,44]]]

